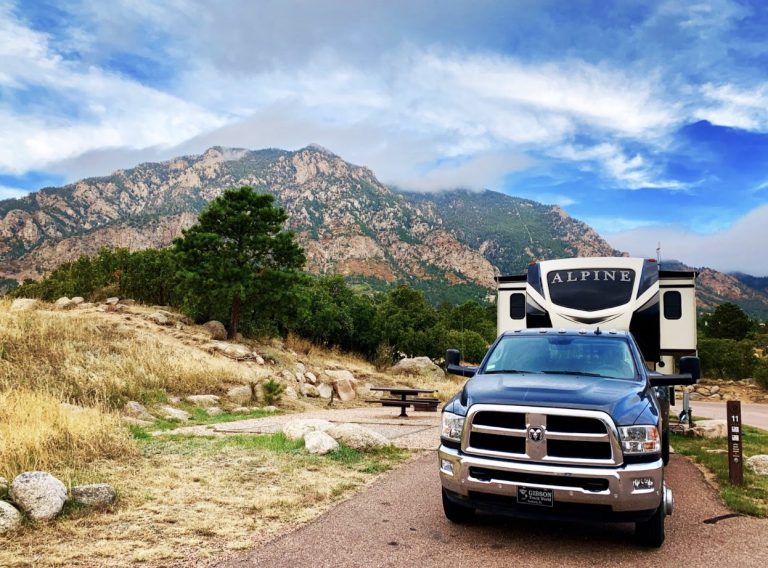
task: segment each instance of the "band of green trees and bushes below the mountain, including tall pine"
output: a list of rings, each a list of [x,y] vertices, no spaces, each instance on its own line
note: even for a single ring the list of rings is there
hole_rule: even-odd
[[[55,301],[109,296],[172,306],[197,322],[226,324],[230,338],[289,333],[371,359],[441,357],[462,350],[479,362],[495,339],[493,305],[432,306],[409,286],[370,292],[343,277],[303,271],[305,257],[286,213],[249,187],[225,191],[166,249],[102,249],[26,281],[14,297]]]

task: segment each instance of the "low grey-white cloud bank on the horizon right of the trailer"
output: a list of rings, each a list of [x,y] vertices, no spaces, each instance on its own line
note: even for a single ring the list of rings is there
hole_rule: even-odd
[[[768,276],[768,205],[750,211],[728,229],[699,234],[679,227],[645,227],[606,235],[614,247],[636,256],[661,256],[694,266],[709,266],[723,272],[741,271]]]

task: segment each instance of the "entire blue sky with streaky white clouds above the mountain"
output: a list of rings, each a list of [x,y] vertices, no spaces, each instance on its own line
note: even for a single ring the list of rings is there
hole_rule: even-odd
[[[768,275],[768,5],[0,0],[0,198],[213,145],[557,203]]]

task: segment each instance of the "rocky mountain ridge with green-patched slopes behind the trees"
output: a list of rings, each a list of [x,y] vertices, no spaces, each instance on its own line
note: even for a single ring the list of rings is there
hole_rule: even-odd
[[[620,254],[556,206],[493,191],[394,191],[318,146],[214,147],[0,201],[0,279],[37,278],[103,246],[166,246],[206,203],[240,185],[286,209],[309,270],[379,289],[405,282],[434,301],[482,297],[495,274],[522,272],[532,259]],[[713,274],[732,288],[718,288],[725,299],[754,292],[749,298],[768,306],[768,296]]]

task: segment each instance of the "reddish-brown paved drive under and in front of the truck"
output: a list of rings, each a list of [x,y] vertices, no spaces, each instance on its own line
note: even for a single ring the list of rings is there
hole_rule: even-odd
[[[661,550],[638,548],[626,524],[555,524],[481,518],[447,521],[430,452],[324,514],[249,553],[208,565],[239,568],[357,566],[739,566],[768,565],[768,520],[711,520],[729,511],[681,456],[669,482],[676,511]],[[710,523],[705,521],[710,520]]]

